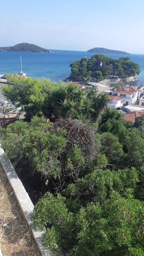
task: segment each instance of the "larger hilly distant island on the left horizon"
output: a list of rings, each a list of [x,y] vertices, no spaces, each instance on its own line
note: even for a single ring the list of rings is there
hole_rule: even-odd
[[[18,43],[10,47],[0,47],[0,52],[44,52],[52,53],[51,51],[31,43]]]

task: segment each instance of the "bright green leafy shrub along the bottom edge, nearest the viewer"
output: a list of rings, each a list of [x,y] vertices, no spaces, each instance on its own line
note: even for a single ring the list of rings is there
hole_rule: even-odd
[[[34,224],[46,228],[46,247],[78,256],[142,256],[143,218],[144,203],[122,198],[114,191],[102,206],[88,203],[75,214],[68,211],[66,198],[48,193],[36,204],[33,213]]]

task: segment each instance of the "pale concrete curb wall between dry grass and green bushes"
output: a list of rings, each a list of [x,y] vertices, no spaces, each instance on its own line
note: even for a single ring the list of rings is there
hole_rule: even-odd
[[[10,160],[5,160],[3,157],[4,151],[2,148],[0,148],[0,163],[2,165],[3,170],[5,171],[5,174],[7,175],[8,182],[10,186],[12,187],[13,193],[15,194],[15,197],[18,201],[18,204],[22,210],[22,213],[30,226],[32,224],[31,221],[31,213],[33,212],[34,205],[31,202],[30,197],[28,196],[28,193],[26,192],[22,182],[17,176],[17,173],[15,172],[15,169],[10,162]],[[38,245],[38,248],[41,252],[42,256],[52,256],[50,250],[46,250],[43,245],[43,236],[45,234],[45,229],[43,231],[40,231],[39,229],[34,230],[31,228],[33,237]],[[2,256],[2,252],[0,250],[0,256]]]

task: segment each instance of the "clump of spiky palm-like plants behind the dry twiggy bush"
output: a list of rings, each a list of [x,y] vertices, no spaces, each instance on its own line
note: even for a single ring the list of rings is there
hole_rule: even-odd
[[[88,118],[94,123],[99,121],[102,111],[109,102],[108,93],[98,93],[95,88],[88,91],[79,89],[71,82],[58,90],[55,98],[59,100],[53,103],[54,108],[58,105],[58,113],[63,117]]]

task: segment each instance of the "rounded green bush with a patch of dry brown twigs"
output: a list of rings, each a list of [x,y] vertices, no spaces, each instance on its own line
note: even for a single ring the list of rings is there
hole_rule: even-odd
[[[43,117],[30,123],[17,121],[1,129],[2,147],[8,158],[28,163],[31,171],[45,175],[56,191],[78,179],[99,151],[96,129],[80,120]]]

